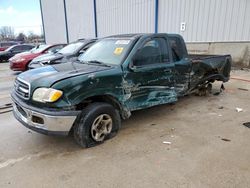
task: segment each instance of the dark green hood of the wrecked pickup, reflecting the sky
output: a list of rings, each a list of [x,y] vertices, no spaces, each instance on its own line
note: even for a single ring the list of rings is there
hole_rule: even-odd
[[[33,88],[51,87],[51,85],[62,79],[110,69],[112,67],[70,62],[32,69],[21,73],[18,78],[30,83]]]

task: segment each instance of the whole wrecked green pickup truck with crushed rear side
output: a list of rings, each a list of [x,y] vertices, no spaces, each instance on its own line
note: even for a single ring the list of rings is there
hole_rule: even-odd
[[[47,135],[69,135],[82,147],[116,135],[134,110],[227,82],[231,56],[188,55],[177,34],[101,39],[77,61],[20,74],[11,93],[18,121]]]

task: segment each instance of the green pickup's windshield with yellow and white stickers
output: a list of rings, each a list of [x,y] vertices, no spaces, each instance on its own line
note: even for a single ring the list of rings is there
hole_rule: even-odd
[[[130,43],[128,39],[103,39],[82,54],[79,61],[99,61],[105,64],[119,65]]]

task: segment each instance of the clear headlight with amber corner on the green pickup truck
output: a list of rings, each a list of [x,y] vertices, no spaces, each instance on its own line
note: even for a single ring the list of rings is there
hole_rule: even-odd
[[[55,102],[63,92],[53,88],[38,88],[34,91],[32,99],[38,102]]]

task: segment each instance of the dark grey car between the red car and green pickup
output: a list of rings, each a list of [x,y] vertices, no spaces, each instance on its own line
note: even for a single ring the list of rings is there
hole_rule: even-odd
[[[77,57],[84,53],[90,46],[92,46],[95,41],[96,39],[81,39],[68,44],[57,53],[41,55],[31,61],[29,64],[29,69],[34,69],[45,65],[75,61]]]

